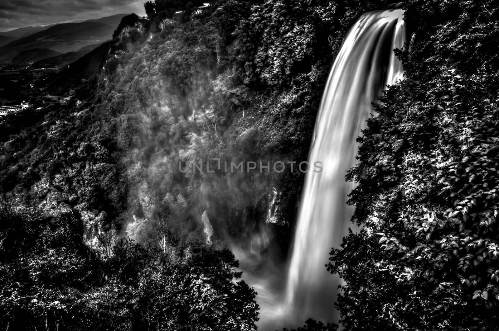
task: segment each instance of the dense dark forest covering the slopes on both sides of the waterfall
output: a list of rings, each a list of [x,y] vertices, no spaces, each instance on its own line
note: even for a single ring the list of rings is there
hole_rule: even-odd
[[[219,165],[306,161],[343,37],[389,3],[155,0],[124,17],[52,82],[67,102],[0,122],[0,328],[254,330],[230,248],[286,256],[303,173]],[[346,176],[364,227],[324,268],[345,281],[344,330],[496,330],[499,1],[403,6],[405,80]]]

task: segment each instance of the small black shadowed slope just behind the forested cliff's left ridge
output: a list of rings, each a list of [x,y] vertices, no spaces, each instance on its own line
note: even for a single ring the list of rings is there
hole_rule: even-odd
[[[82,79],[88,79],[95,73],[100,72],[106,61],[111,43],[112,41],[106,41],[71,63],[69,68],[65,68],[57,75],[48,88],[50,90],[74,88],[81,84]]]

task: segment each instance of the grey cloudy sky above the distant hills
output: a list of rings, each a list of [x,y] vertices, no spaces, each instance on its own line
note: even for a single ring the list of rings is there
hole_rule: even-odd
[[[135,12],[145,0],[0,0],[0,33],[29,25],[63,23]]]

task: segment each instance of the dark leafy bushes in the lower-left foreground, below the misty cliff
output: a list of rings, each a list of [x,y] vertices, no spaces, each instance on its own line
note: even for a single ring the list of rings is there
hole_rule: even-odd
[[[0,324],[8,330],[254,330],[255,293],[227,249],[182,246],[166,228],[140,245],[83,245],[77,211],[0,210]]]

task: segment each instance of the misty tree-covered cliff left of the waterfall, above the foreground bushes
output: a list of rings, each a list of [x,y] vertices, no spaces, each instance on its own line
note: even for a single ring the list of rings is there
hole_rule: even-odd
[[[141,240],[163,220],[195,239],[206,210],[214,242],[250,245],[270,217],[285,247],[330,64],[381,5],[231,0],[123,26],[98,75],[71,75],[67,104],[2,124],[2,192],[80,210],[88,240],[112,228]]]

